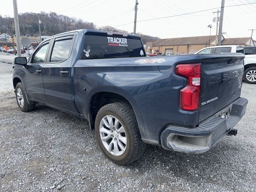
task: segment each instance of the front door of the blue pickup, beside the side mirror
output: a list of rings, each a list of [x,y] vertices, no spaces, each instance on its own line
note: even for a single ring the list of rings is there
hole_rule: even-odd
[[[28,98],[40,102],[46,102],[44,97],[44,84],[43,84],[43,67],[46,62],[47,53],[49,50],[49,42],[43,43],[34,52],[32,57],[28,60],[26,68],[24,68],[24,84],[26,86],[26,93]]]

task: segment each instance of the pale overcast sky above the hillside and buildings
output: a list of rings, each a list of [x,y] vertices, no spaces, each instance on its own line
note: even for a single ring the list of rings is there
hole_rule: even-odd
[[[135,0],[17,0],[17,2],[19,13],[52,11],[82,18],[84,21],[94,22],[97,26],[116,26],[116,28],[133,32],[133,23],[130,22],[134,21]],[[216,9],[137,22],[137,32],[160,38],[205,36],[210,34],[210,28],[207,26],[212,24],[212,35],[216,33],[216,22],[212,21],[216,14],[212,12],[218,10],[221,0],[138,0],[138,2],[138,21]],[[224,9],[223,31],[231,38],[248,37],[251,34],[249,29],[256,29],[256,0],[225,1],[225,6],[236,4],[248,5]],[[0,14],[13,16],[12,1],[4,2],[4,8],[1,6]],[[224,37],[228,38],[227,35]],[[253,38],[256,40],[256,31]]]

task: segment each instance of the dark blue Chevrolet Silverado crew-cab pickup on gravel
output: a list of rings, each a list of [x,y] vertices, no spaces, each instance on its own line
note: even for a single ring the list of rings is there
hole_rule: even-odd
[[[47,38],[28,60],[14,59],[22,112],[37,103],[87,119],[113,162],[127,165],[146,144],[199,154],[246,112],[244,55],[146,57],[140,36],[76,30]]]

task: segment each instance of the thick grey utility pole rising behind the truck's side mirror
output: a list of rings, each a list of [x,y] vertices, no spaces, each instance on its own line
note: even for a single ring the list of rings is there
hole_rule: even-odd
[[[20,25],[19,25],[19,17],[18,17],[17,0],[13,0],[13,11],[14,11],[15,33],[16,33],[16,49],[17,49],[18,57],[21,57]],[[15,55],[16,55],[16,52],[15,52]]]

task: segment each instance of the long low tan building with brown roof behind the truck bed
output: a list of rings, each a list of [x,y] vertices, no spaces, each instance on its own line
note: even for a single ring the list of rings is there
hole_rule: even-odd
[[[224,38],[222,36],[221,45],[254,46],[254,42],[250,37]],[[166,55],[175,53],[193,54],[202,48],[214,45],[215,35],[159,39],[154,42],[146,42],[146,53],[161,52]]]

